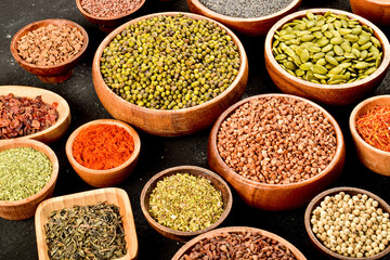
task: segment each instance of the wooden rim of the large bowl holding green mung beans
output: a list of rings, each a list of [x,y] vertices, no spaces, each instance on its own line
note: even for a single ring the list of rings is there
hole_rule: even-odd
[[[103,54],[104,49],[128,25],[135,24],[136,22],[139,22],[141,20],[153,18],[153,17],[156,17],[156,16],[176,16],[176,15],[184,15],[184,16],[191,17],[193,20],[197,20],[197,21],[207,20],[207,21],[216,24],[217,26],[219,26],[221,29],[224,29],[227,32],[227,35],[232,38],[234,43],[237,46],[237,50],[238,50],[238,54],[239,54],[239,62],[240,62],[237,76],[235,77],[233,82],[229,86],[229,88],[226,88],[222,93],[220,93],[216,98],[213,98],[213,99],[211,99],[211,100],[209,100],[209,101],[207,101],[207,102],[205,102],[203,104],[199,104],[199,105],[196,105],[196,106],[193,106],[193,107],[186,107],[186,108],[180,108],[180,109],[153,109],[153,108],[146,108],[146,107],[143,107],[143,106],[139,106],[139,105],[132,104],[132,103],[123,100],[121,96],[116,94],[104,82],[104,79],[102,77],[102,73],[100,70],[100,61],[102,58],[102,54]],[[186,114],[186,113],[190,113],[190,112],[202,109],[202,108],[204,108],[206,106],[209,106],[210,104],[220,102],[239,83],[242,78],[245,76],[245,72],[247,70],[247,67],[248,67],[248,60],[247,60],[247,55],[246,55],[243,43],[240,42],[238,37],[231,29],[229,29],[226,26],[224,26],[220,22],[217,22],[217,21],[214,21],[212,18],[206,17],[206,16],[203,16],[203,15],[198,15],[198,14],[194,14],[194,13],[187,13],[187,12],[159,12],[159,13],[147,14],[147,15],[140,16],[140,17],[136,17],[134,20],[131,20],[131,21],[122,24],[121,26],[119,26],[115,30],[113,30],[108,36],[106,36],[104,38],[104,40],[101,42],[101,44],[99,46],[99,48],[98,48],[98,50],[95,52],[95,55],[93,57],[92,74],[94,76],[96,76],[96,80],[98,80],[98,82],[93,82],[95,90],[96,90],[96,84],[100,84],[100,89],[104,90],[104,92],[106,92],[106,93],[112,93],[113,96],[114,96],[113,99],[116,102],[120,103],[121,106],[131,107],[131,108],[138,109],[138,110],[140,110],[142,113],[156,113],[158,115],[167,116],[167,115],[172,115],[173,113],[176,115]]]

